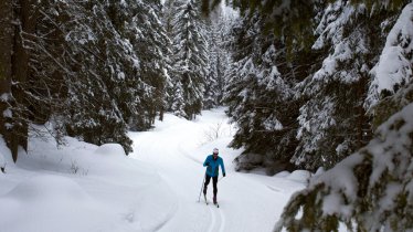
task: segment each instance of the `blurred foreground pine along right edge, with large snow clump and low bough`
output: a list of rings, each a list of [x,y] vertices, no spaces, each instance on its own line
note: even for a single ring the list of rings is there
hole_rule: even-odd
[[[388,81],[385,89],[395,94],[375,103],[374,117],[381,125],[366,147],[294,194],[275,231],[337,231],[340,222],[349,231],[413,230],[413,81],[409,71],[401,72],[403,75],[398,77],[406,81],[396,91],[399,82],[392,72],[401,67],[406,71],[406,64],[412,65],[411,52],[406,51],[412,48],[409,38],[413,36],[413,3],[404,7],[395,23],[393,19],[400,10],[382,10],[388,13],[381,14],[389,18],[381,25],[390,23],[391,30],[372,74]],[[392,60],[392,65],[383,65],[389,52],[399,59]]]

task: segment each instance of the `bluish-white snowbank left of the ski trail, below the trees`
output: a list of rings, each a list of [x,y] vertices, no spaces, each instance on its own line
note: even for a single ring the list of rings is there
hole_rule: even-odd
[[[118,144],[65,140],[31,138],[0,175],[0,231],[155,231],[170,218],[173,194],[153,167]],[[3,139],[1,154],[10,156]]]

